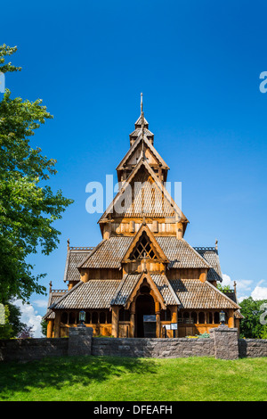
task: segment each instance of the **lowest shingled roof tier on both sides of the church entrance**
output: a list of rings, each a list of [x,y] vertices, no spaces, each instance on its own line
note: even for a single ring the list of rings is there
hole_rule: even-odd
[[[135,285],[143,274],[125,275],[122,280],[92,279],[87,283],[77,283],[50,306],[51,309],[110,308],[112,305],[125,306]],[[198,279],[167,280],[165,275],[150,275],[166,305],[179,305],[190,309],[233,308],[235,316],[242,318],[239,305],[220,292],[209,282]],[[54,314],[53,314],[54,316]],[[46,318],[53,318],[47,316]]]

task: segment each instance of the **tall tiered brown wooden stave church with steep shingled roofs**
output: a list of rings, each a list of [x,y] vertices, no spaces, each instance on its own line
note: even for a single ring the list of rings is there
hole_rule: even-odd
[[[217,288],[222,282],[217,242],[193,248],[184,240],[189,221],[166,191],[168,170],[141,107],[130,149],[117,166],[122,187],[99,220],[102,241],[94,248],[70,247],[68,241],[68,289],[53,290],[50,283],[48,338],[68,336],[81,310],[94,336],[143,337],[144,315],[156,320],[154,337],[172,337],[172,325],[178,337],[208,333],[220,325],[221,310],[228,326],[239,328],[236,289]],[[117,212],[117,202],[135,182],[153,185],[152,208],[144,190]]]

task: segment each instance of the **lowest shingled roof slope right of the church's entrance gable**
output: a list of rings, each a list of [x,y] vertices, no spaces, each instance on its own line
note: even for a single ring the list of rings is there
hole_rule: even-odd
[[[238,304],[208,281],[202,283],[198,279],[175,279],[170,283],[182,308],[239,309]]]

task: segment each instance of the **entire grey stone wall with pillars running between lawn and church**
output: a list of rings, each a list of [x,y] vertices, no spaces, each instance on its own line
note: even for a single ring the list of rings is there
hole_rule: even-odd
[[[115,357],[267,357],[267,340],[238,339],[238,330],[220,326],[210,338],[93,338],[91,327],[69,328],[69,338],[0,340],[0,361],[83,355]]]

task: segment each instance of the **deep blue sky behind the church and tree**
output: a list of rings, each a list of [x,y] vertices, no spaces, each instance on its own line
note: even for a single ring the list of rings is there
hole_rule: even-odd
[[[267,298],[267,94],[259,90],[266,9],[264,1],[228,0],[1,5],[1,44],[18,45],[12,62],[23,68],[7,75],[6,87],[42,98],[54,115],[32,146],[58,160],[50,185],[75,200],[57,223],[58,250],[31,258],[36,273],[47,273],[45,285],[64,288],[68,238],[74,246],[101,241],[85,185],[115,175],[143,92],[168,180],[182,182],[185,239],[209,246],[217,238],[239,297]],[[44,300],[32,296],[38,315]]]

